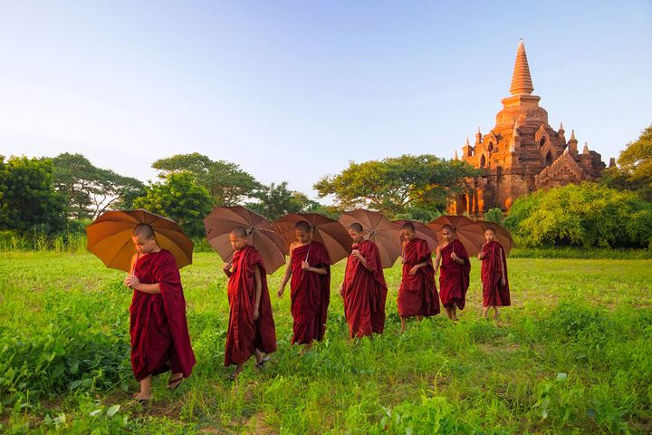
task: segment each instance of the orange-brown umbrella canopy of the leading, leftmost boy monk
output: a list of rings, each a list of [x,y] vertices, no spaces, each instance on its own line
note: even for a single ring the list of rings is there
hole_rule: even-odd
[[[131,241],[131,233],[139,224],[149,224],[154,229],[158,246],[175,257],[179,268],[192,263],[195,244],[177,223],[143,209],[102,213],[86,227],[87,249],[107,267],[130,273],[131,257],[138,252]]]

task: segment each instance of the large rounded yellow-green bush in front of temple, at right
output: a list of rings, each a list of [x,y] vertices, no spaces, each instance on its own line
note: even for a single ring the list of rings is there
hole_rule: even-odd
[[[648,247],[652,205],[595,183],[534,192],[514,201],[505,226],[524,245]]]

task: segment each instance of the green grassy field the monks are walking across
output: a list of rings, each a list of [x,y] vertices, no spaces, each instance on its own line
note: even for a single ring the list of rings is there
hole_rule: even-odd
[[[513,306],[484,321],[479,262],[460,322],[349,343],[333,267],[326,339],[299,356],[289,297],[273,296],[279,350],[225,380],[225,276],[215,254],[181,275],[197,355],[174,392],[129,407],[130,292],[91,255],[0,254],[0,431],[6,433],[649,433],[652,261],[509,260]],[[270,281],[273,292],[280,272]]]

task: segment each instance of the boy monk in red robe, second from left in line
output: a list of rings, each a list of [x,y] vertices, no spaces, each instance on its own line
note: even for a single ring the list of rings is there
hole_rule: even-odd
[[[227,376],[235,380],[252,354],[257,368],[269,361],[264,353],[276,351],[276,330],[263,257],[247,245],[245,227],[235,227],[230,237],[235,254],[231,263],[222,267],[229,277],[226,293],[230,306],[225,366],[236,364],[235,372]]]

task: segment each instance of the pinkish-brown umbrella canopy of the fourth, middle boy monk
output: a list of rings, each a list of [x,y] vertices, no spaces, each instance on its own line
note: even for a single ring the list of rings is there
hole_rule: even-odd
[[[396,259],[401,256],[401,242],[398,231],[394,225],[378,211],[359,208],[347,211],[340,216],[340,222],[345,228],[351,224],[359,223],[366,232],[365,240],[371,240],[379,247],[380,262],[383,269],[394,266]]]

